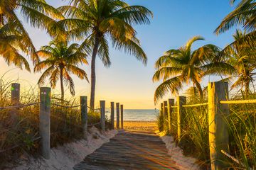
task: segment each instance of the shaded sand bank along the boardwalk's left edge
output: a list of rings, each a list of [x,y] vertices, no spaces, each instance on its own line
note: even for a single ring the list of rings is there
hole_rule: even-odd
[[[14,169],[25,170],[25,169],[61,169],[68,170],[73,169],[75,164],[82,161],[88,154],[91,154],[95,149],[99,148],[105,142],[109,142],[110,138],[117,134],[117,130],[110,130],[101,134],[97,128],[92,127],[89,130],[88,142],[80,140],[65,144],[60,147],[51,149],[50,159],[34,159],[31,157],[23,157],[21,159],[21,166]]]

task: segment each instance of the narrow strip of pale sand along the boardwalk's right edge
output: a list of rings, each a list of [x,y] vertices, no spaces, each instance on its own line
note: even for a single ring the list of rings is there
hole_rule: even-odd
[[[161,134],[159,135],[161,136]],[[197,159],[192,157],[185,157],[183,155],[182,149],[180,147],[176,147],[174,137],[161,136],[161,139],[166,144],[168,154],[176,162],[180,169],[200,169],[196,164]]]

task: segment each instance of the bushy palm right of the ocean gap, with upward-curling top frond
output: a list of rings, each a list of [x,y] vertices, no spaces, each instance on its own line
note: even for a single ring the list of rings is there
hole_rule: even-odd
[[[156,61],[156,72],[153,81],[163,79],[154,94],[154,101],[157,102],[166,92],[178,94],[183,84],[192,81],[193,86],[198,89],[198,94],[203,98],[201,79],[207,74],[233,73],[233,67],[223,61],[217,60],[219,47],[215,45],[204,45],[192,51],[193,42],[204,40],[201,36],[195,36],[188,40],[185,46],[165,52],[164,56]]]

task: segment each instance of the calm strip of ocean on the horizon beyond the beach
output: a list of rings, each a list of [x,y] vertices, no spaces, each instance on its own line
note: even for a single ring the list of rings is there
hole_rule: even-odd
[[[124,109],[124,121],[155,121],[158,112],[154,109]],[[110,119],[109,109],[106,110],[106,115]],[[116,115],[116,111],[114,111],[114,118]]]

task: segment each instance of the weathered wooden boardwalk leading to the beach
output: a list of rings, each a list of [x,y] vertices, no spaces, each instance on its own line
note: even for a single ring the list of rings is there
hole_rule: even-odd
[[[164,142],[150,131],[119,133],[74,167],[91,169],[179,169]]]

